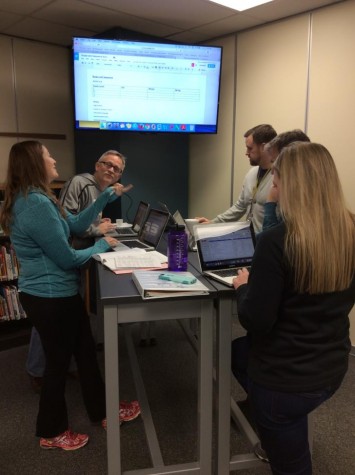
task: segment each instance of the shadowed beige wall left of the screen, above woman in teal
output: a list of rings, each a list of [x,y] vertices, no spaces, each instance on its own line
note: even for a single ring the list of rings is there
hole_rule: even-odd
[[[0,136],[0,183],[5,181],[11,145],[37,138],[35,134],[65,136],[38,140],[57,159],[60,178],[70,178],[74,173],[70,51],[0,36],[0,57],[0,132],[31,135]]]

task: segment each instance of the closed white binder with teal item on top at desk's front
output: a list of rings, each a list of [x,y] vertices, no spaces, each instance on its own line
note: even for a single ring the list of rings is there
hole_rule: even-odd
[[[186,297],[192,295],[206,295],[208,288],[191,272],[175,272],[176,275],[186,280],[195,280],[192,284],[162,280],[160,271],[135,270],[132,272],[132,280],[143,300],[167,297]],[[166,273],[165,273],[166,274]],[[174,274],[169,272],[169,274]]]

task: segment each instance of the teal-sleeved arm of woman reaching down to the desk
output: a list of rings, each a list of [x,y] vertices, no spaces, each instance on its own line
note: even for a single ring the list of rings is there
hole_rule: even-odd
[[[25,229],[26,234],[62,269],[80,267],[93,254],[110,249],[108,242],[100,239],[90,248],[74,250],[69,245],[66,226],[57,206],[48,198],[35,200],[21,215],[21,227]]]

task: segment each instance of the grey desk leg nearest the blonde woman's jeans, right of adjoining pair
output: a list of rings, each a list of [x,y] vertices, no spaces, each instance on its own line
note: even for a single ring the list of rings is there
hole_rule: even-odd
[[[220,298],[217,315],[217,473],[229,474],[231,403],[232,301]]]

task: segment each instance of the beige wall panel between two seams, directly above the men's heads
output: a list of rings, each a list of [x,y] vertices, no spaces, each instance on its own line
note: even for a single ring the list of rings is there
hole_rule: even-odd
[[[238,35],[234,200],[249,169],[244,132],[262,123],[304,130],[308,39],[309,15]]]

